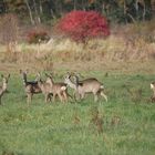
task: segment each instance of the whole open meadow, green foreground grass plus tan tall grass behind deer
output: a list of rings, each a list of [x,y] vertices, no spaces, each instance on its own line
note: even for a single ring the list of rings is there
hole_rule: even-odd
[[[86,44],[56,35],[41,44],[1,44],[0,74],[11,78],[0,106],[0,154],[154,155],[155,104],[149,87],[155,81],[154,25],[154,20],[113,25],[107,39]],[[20,69],[30,70],[29,80],[38,71],[52,71],[54,81],[63,81],[66,72],[96,78],[105,85],[108,102],[94,103],[87,94],[82,101],[45,104],[38,94],[28,106]]]

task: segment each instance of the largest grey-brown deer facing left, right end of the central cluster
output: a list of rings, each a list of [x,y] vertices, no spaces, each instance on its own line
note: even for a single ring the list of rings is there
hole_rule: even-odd
[[[94,101],[96,102],[99,99],[99,94],[102,95],[107,102],[107,96],[104,94],[104,86],[96,79],[85,79],[83,81],[79,81],[76,75],[73,76],[74,82],[71,80],[71,74],[68,74],[64,79],[64,83],[66,83],[70,87],[75,90],[75,93],[80,95],[80,99],[84,99],[85,93],[93,93]]]

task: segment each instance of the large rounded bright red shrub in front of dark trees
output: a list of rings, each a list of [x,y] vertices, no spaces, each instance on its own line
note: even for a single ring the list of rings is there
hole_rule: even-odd
[[[110,35],[110,28],[104,17],[95,11],[72,11],[63,17],[56,29],[74,41]]]

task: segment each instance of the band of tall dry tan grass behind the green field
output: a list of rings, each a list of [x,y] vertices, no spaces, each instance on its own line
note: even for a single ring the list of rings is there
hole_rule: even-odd
[[[111,35],[86,44],[52,38],[48,43],[0,46],[0,62],[51,70],[59,62],[149,62],[155,59],[155,22],[112,27]],[[11,44],[10,44],[11,45]],[[10,51],[9,50],[9,51]]]

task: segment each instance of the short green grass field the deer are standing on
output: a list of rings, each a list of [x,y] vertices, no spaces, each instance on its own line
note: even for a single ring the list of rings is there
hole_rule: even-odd
[[[44,103],[34,95],[28,107],[19,75],[0,106],[0,154],[14,155],[154,155],[155,104],[149,83],[155,75],[85,72],[104,82],[108,102]],[[20,80],[20,81],[19,81]],[[103,128],[92,122],[99,111]],[[118,117],[118,122],[114,122]],[[76,122],[78,118],[78,122]]]

